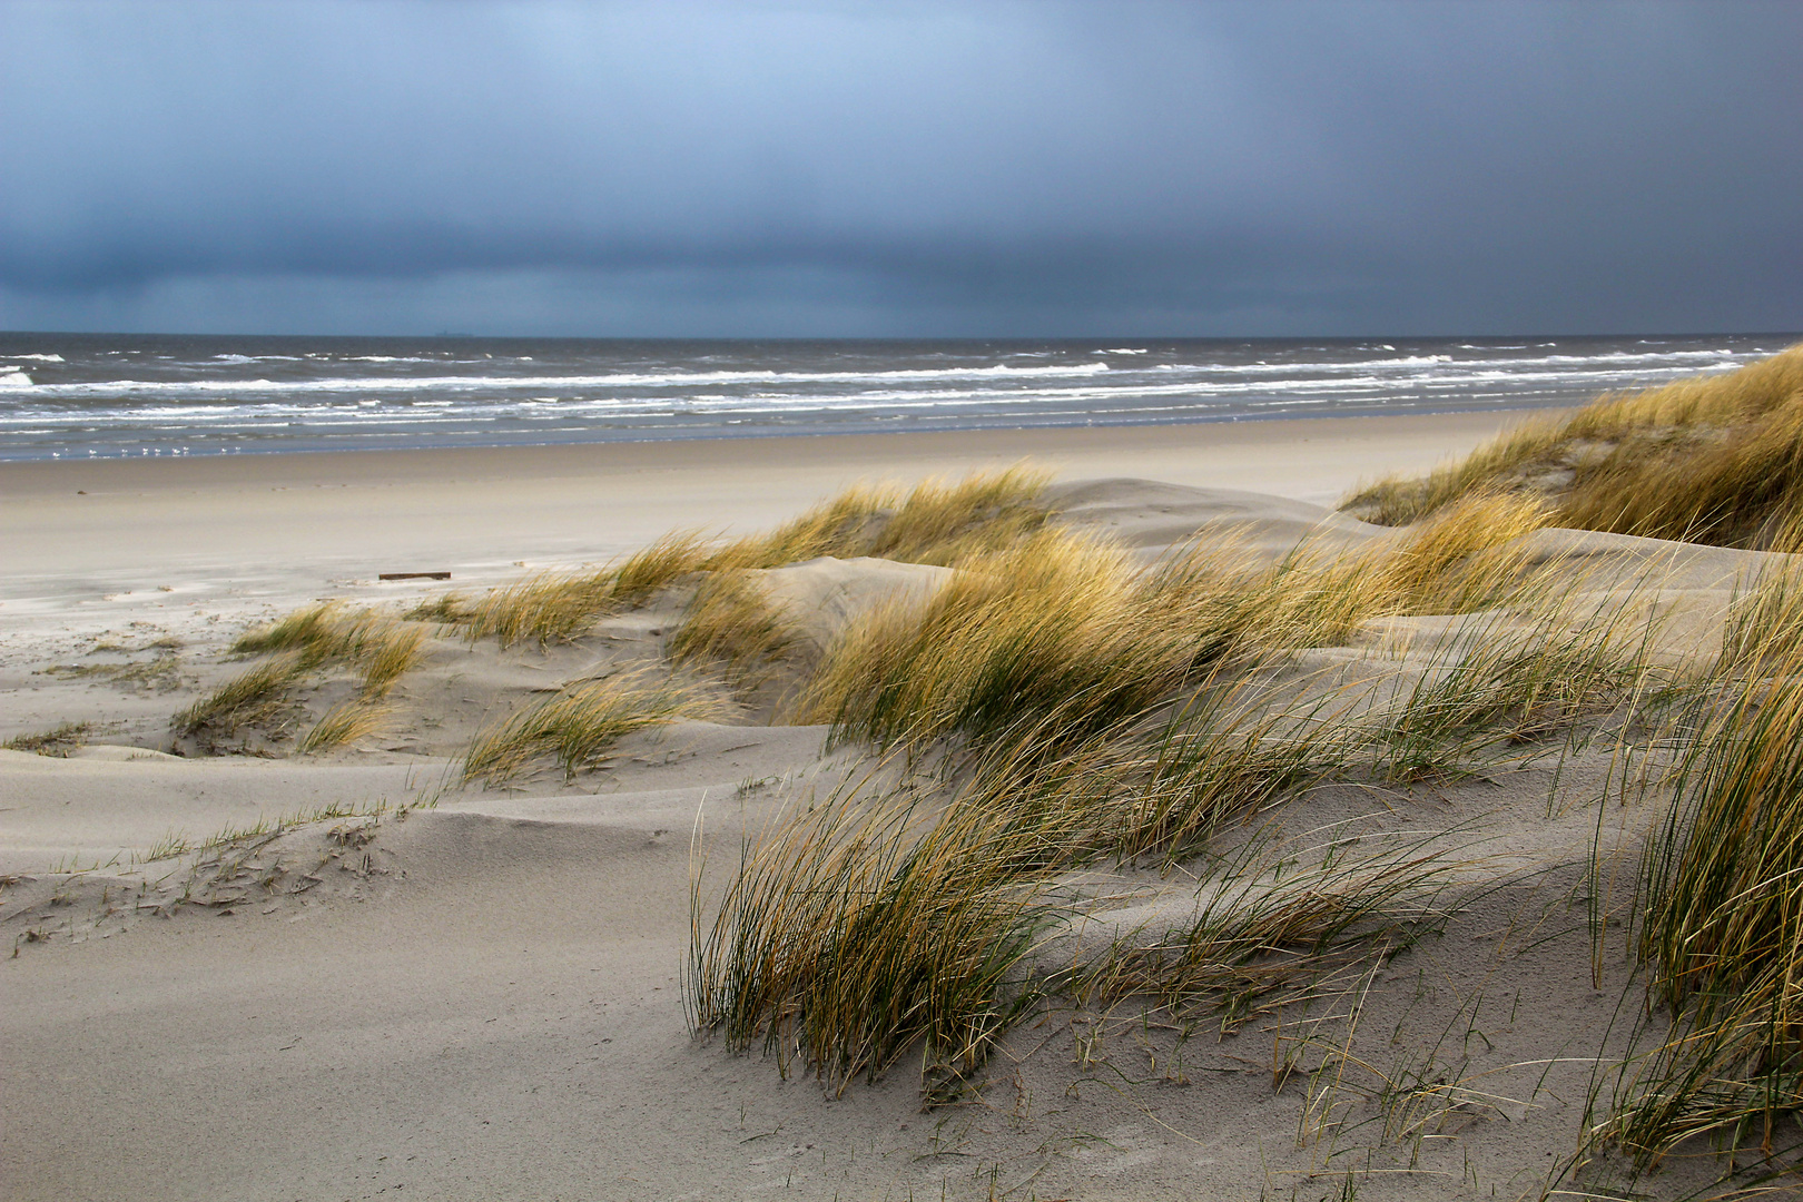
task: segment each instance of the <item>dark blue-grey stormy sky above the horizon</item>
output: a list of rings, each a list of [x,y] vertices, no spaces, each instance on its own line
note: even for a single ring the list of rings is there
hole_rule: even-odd
[[[1803,4],[11,4],[0,328],[1803,330]]]

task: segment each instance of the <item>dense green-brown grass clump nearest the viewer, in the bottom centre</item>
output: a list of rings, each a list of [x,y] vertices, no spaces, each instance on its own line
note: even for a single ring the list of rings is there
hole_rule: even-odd
[[[1015,968],[1053,921],[1051,811],[900,789],[788,811],[745,849],[712,921],[692,892],[691,1024],[790,1049],[835,1090],[925,1042],[929,1097],[956,1094],[1033,989]]]

